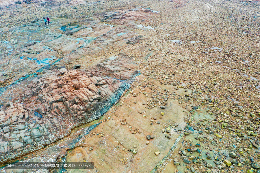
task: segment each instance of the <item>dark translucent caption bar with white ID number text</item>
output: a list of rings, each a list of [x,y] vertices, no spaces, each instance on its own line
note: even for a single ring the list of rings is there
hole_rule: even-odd
[[[64,163],[10,163],[5,166],[5,169],[93,169],[93,162],[64,162]]]

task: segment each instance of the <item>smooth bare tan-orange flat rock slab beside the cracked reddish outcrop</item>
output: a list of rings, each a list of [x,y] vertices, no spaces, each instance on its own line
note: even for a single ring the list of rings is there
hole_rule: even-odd
[[[73,149],[66,155],[66,159],[70,161],[92,160],[95,162],[99,172],[106,172],[108,168],[114,172],[129,172],[131,170],[150,172],[156,166],[156,163],[163,159],[170,151],[169,148],[174,144],[178,134],[172,134],[171,139],[165,138],[164,134],[161,133],[161,129],[159,129],[161,128],[160,125],[151,126],[149,123],[150,119],[146,119],[143,116],[133,116],[135,110],[142,109],[142,104],[140,104],[140,106],[129,106],[129,104],[132,104],[133,101],[141,102],[143,99],[145,100],[144,95],[138,98],[128,98],[125,101],[127,106],[123,105],[118,108],[115,112],[116,116],[113,116],[108,122],[101,123],[93,130],[103,131],[104,137],[100,138],[97,135],[93,135],[91,138],[88,138],[88,140],[85,138],[84,140],[80,140],[78,145],[83,147]],[[160,119],[160,121],[185,123],[183,121],[183,109],[179,106],[178,102],[171,101],[170,104],[168,110],[165,111],[166,116]],[[160,112],[161,110],[157,108],[151,112],[146,112],[146,114],[160,114]],[[131,133],[128,125],[120,124],[121,119],[126,119],[126,122],[131,124],[131,129],[134,130],[138,128],[142,133]],[[154,135],[155,138],[151,139],[149,144],[146,145],[146,136],[148,134]],[[94,152],[88,151],[88,146],[92,146]],[[135,149],[137,153],[131,152],[131,149]],[[155,155],[157,151],[159,151],[160,154]],[[82,153],[84,153],[84,155]],[[121,158],[126,158],[125,163],[127,163],[122,164],[122,162],[120,162]]]

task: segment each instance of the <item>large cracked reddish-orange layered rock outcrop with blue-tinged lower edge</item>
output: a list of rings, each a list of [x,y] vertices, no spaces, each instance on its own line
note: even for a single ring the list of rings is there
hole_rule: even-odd
[[[113,76],[130,78],[134,71],[129,69],[133,66],[131,59],[121,57],[99,63],[86,72],[44,69],[21,97],[14,99],[22,99],[21,103],[8,102],[0,108],[0,161],[35,151],[64,138],[73,128],[99,118],[129,86],[125,85],[127,80]],[[113,75],[114,72],[120,74]]]

